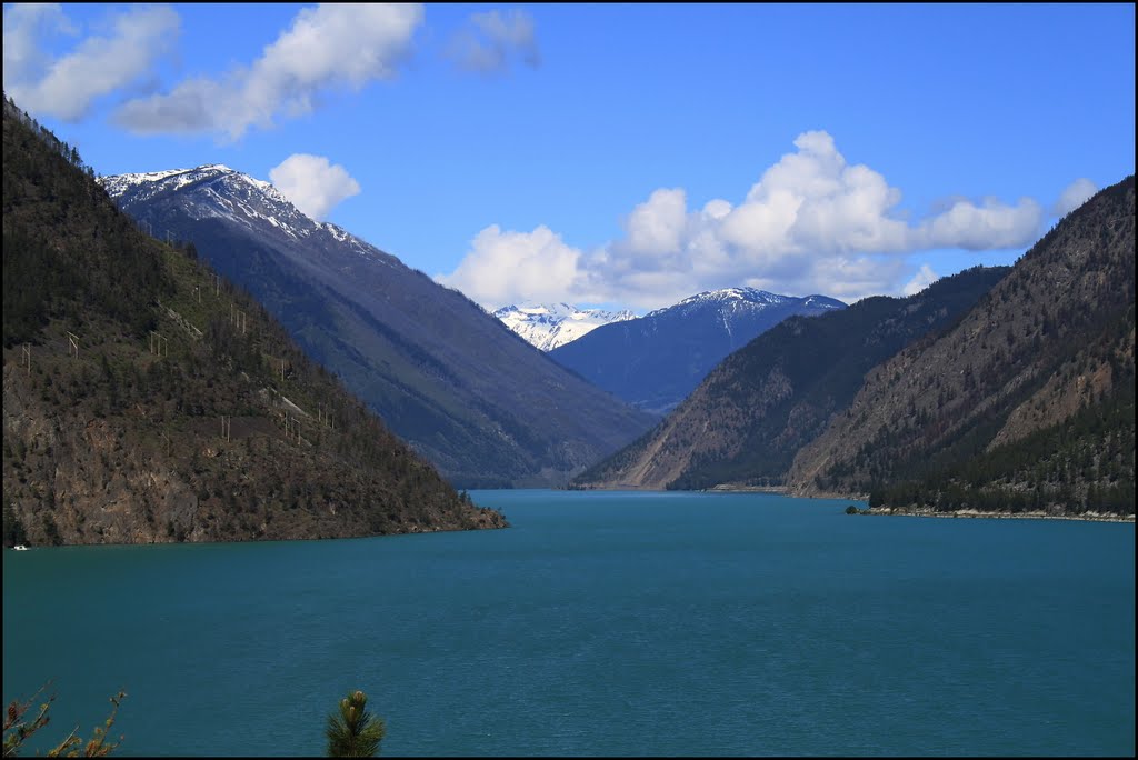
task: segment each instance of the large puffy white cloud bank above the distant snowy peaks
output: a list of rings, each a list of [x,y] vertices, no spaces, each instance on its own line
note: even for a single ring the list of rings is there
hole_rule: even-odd
[[[1044,212],[1030,198],[953,199],[910,223],[898,209],[900,191],[868,166],[848,164],[826,132],[805,132],[794,147],[737,205],[717,198],[688,209],[682,188],[659,189],[625,217],[618,240],[582,251],[558,238],[574,255],[561,256],[555,278],[523,276],[513,265],[516,256],[527,272],[542,271],[544,254],[534,246],[503,247],[493,262],[476,246],[444,279],[484,304],[555,298],[655,308],[739,284],[857,300],[935,276],[923,267],[906,283],[908,254],[1026,247],[1040,232]],[[539,230],[553,234],[530,234]]]

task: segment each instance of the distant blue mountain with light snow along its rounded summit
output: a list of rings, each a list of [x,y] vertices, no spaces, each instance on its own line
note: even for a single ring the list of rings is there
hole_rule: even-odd
[[[825,296],[753,288],[702,292],[642,317],[596,328],[550,356],[641,408],[665,413],[727,354],[787,316],[844,308]]]

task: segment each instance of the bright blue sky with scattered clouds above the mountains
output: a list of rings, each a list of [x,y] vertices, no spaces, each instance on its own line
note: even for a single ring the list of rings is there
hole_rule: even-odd
[[[222,163],[487,307],[847,301],[1133,173],[1133,5],[6,5],[100,174]]]

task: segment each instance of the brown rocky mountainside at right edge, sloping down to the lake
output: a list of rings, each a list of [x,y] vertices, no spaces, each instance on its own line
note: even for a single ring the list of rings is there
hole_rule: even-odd
[[[879,509],[1133,514],[1133,176],[1064,217],[951,330],[875,367],[787,482]]]

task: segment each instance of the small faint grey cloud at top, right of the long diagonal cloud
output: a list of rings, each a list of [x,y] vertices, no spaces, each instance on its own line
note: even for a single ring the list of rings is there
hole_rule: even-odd
[[[461,68],[484,74],[505,71],[514,56],[534,68],[542,63],[534,18],[517,9],[473,14],[470,26],[451,40],[450,56]]]

